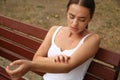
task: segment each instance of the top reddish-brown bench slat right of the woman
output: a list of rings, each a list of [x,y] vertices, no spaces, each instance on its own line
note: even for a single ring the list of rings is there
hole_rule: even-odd
[[[120,66],[120,54],[100,48],[95,59],[106,62],[114,66]]]

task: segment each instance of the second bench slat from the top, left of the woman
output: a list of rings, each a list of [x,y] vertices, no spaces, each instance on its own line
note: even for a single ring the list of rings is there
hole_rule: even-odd
[[[7,34],[6,34],[7,33]],[[8,31],[8,30],[5,30],[5,29],[2,29],[0,28],[0,36],[3,36],[7,39],[10,39],[12,41],[15,41],[19,44],[22,44],[22,45],[25,45],[31,49],[34,49],[34,50],[37,50],[38,47],[40,46],[40,42],[36,42],[36,41],[33,41],[31,39],[28,39],[24,36],[21,36],[21,35],[18,35],[16,33],[11,32],[11,31]]]

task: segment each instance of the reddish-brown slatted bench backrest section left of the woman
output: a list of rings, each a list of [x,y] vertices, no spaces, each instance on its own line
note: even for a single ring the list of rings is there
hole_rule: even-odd
[[[47,34],[47,30],[3,16],[0,16],[0,24],[0,47],[4,51],[1,55],[7,58],[9,54],[18,54],[14,55],[14,57],[9,56],[10,60],[18,59],[18,56],[19,58],[32,59],[35,51]]]

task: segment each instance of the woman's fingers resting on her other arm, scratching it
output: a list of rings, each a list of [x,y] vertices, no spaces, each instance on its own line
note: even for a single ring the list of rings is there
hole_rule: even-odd
[[[59,63],[68,63],[70,57],[66,56],[66,55],[57,55],[54,58],[55,62],[59,62]]]

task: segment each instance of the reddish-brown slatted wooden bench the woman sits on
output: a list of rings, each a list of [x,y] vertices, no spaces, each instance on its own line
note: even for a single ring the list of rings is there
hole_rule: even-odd
[[[0,56],[10,61],[31,60],[46,34],[45,29],[0,16]],[[84,80],[117,80],[119,70],[120,55],[99,48]],[[2,67],[0,80],[10,80]]]

